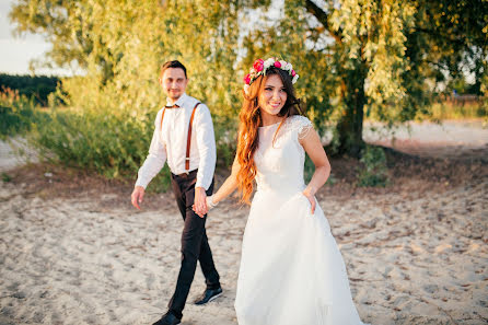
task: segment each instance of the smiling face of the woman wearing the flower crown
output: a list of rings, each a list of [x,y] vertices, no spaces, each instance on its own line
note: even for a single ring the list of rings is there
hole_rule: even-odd
[[[287,103],[288,94],[278,74],[266,78],[265,86],[258,96],[262,113],[277,115]]]

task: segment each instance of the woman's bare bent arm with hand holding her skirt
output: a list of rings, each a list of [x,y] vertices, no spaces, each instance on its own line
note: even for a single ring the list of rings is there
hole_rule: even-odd
[[[315,172],[312,179],[303,190],[303,194],[312,205],[312,213],[314,213],[314,195],[317,193],[318,188],[327,182],[327,178],[330,175],[330,163],[328,162],[327,154],[325,153],[324,147],[322,147],[321,138],[315,129],[310,129],[306,135],[300,139],[300,143],[315,165]]]

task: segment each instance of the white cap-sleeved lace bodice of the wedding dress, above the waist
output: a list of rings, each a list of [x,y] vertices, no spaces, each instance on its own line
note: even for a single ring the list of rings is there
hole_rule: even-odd
[[[290,116],[272,142],[278,126],[274,124],[258,130],[259,144],[254,154],[257,190],[302,190],[305,151],[300,139],[312,129],[312,123],[304,116]]]

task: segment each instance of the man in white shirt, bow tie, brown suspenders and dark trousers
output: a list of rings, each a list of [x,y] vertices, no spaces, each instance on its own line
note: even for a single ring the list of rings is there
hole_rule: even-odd
[[[207,210],[206,197],[213,190],[216,140],[210,111],[185,93],[186,68],[176,60],[164,63],[159,82],[166,94],[166,106],[158,112],[149,155],[139,170],[131,201],[140,209],[146,186],[167,161],[173,193],[185,223],[182,265],[169,311],[153,325],[174,325],[182,321],[197,260],[207,289],[195,303],[205,304],[222,293],[205,229],[207,214],[200,218],[191,209],[195,205],[200,211]]]

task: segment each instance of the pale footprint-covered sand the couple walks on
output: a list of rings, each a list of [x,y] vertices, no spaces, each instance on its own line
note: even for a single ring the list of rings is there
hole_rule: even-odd
[[[405,152],[413,149],[406,139],[402,144]],[[455,155],[442,146],[444,151],[422,151],[452,154],[429,161],[431,174],[398,176],[381,189],[335,184],[318,195],[363,322],[488,323],[488,166],[478,159],[488,150],[476,143],[466,162],[464,151]],[[460,164],[449,170],[451,172],[435,176],[452,164]],[[23,171],[11,167],[3,172],[15,181]],[[148,196],[136,211],[130,187],[125,194],[56,194],[47,190],[56,171],[35,173],[46,190],[34,190],[26,178],[0,187],[0,324],[156,321],[181,260],[183,221],[172,194]],[[210,213],[208,236],[224,294],[194,305],[205,289],[197,269],[182,324],[237,324],[233,303],[247,212],[230,201]]]

